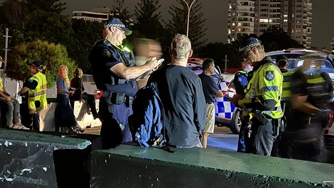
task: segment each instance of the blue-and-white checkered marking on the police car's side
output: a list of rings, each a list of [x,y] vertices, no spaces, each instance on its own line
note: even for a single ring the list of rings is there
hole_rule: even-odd
[[[227,96],[232,97],[234,93],[227,88],[228,84],[228,82],[223,81],[220,83],[220,85],[218,85],[218,88],[222,91],[228,91]],[[231,102],[229,102],[227,98],[221,97],[216,99],[214,106],[217,117],[230,120],[232,119],[235,106]]]

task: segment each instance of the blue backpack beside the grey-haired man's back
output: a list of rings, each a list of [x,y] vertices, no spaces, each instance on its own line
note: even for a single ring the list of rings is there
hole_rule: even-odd
[[[133,141],[142,147],[161,145],[163,140],[163,106],[154,86],[138,90],[132,103],[129,127]]]

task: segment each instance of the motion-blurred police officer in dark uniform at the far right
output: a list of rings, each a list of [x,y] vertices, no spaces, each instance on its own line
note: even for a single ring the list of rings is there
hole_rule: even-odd
[[[305,71],[310,61],[291,77],[291,119],[289,138],[294,143],[292,158],[317,161],[322,146],[323,128],[328,124],[328,103],[333,97],[329,75],[319,66]],[[312,64],[317,64],[312,62]],[[289,123],[290,125],[290,123]]]

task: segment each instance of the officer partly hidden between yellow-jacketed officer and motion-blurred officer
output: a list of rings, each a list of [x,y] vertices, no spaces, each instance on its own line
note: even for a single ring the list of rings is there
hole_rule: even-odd
[[[287,70],[289,65],[288,58],[285,55],[279,55],[276,57],[276,65],[280,68],[282,75],[283,75],[283,86],[282,86],[282,99],[281,99],[281,106],[284,112],[284,116],[282,117],[281,126],[280,126],[280,136],[277,138],[273,144],[271,156],[277,157],[279,156],[279,141],[282,140],[280,144],[280,153],[282,157],[288,158],[286,156],[289,155],[289,145],[288,137],[283,132],[285,131],[288,123],[288,119],[291,118],[291,77],[293,74],[292,70]],[[284,135],[282,135],[284,134]],[[283,138],[282,138],[282,137]]]

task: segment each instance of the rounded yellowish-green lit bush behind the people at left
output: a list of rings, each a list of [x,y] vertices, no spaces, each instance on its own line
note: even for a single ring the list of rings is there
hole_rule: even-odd
[[[9,53],[7,74],[9,78],[24,81],[29,75],[29,65],[27,62],[40,61],[46,66],[45,75],[47,87],[53,87],[57,80],[58,68],[66,65],[69,72],[72,72],[76,65],[68,58],[66,48],[63,45],[54,45],[40,40],[21,43],[14,47]],[[69,74],[71,77],[71,74]]]

